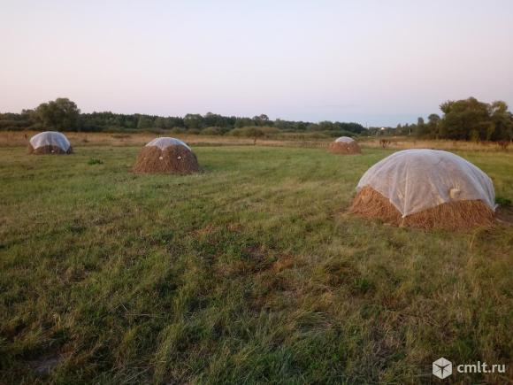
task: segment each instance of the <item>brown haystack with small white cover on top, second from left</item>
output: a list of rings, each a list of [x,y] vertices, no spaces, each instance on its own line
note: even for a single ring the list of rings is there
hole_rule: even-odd
[[[195,173],[198,160],[190,147],[175,138],[156,138],[146,144],[135,162],[135,173]]]

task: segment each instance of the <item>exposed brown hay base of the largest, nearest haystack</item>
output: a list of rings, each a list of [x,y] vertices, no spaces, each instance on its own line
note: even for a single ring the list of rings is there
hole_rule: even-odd
[[[381,219],[399,227],[465,230],[488,227],[494,223],[494,212],[479,200],[440,204],[402,218],[401,212],[387,197],[370,187],[364,187],[356,194],[349,211],[364,218]]]

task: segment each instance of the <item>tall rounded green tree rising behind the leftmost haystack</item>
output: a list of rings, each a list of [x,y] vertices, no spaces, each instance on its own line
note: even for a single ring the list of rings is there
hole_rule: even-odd
[[[80,110],[67,97],[59,97],[55,101],[39,104],[35,109],[34,118],[42,124],[42,127],[57,130],[73,130],[77,123]]]

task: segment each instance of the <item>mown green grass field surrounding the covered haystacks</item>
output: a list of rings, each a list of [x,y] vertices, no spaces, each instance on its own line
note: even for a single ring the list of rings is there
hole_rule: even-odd
[[[512,362],[511,226],[345,214],[392,151],[200,147],[203,173],[170,176],[131,173],[137,150],[0,149],[0,382],[411,383],[442,356]],[[511,154],[460,155],[513,197]]]

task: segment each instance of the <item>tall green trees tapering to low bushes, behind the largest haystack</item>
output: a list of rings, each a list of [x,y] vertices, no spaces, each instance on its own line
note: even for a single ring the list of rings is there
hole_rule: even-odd
[[[475,97],[440,104],[442,116],[432,113],[417,124],[371,127],[371,135],[414,135],[426,139],[512,141],[513,114],[502,101],[479,102]]]

